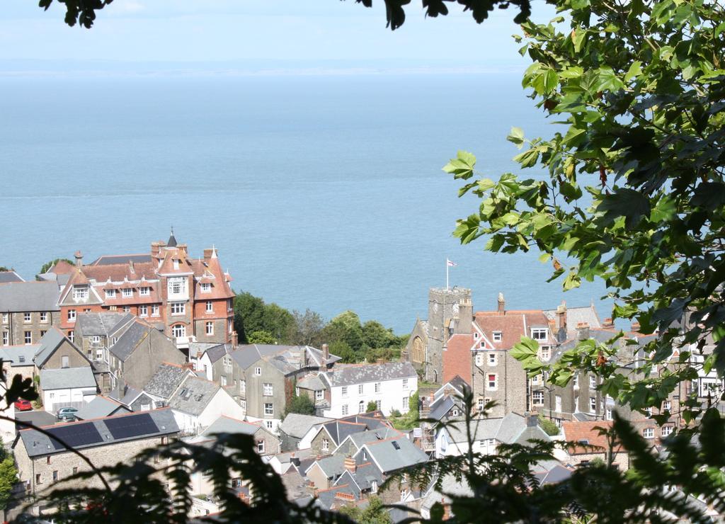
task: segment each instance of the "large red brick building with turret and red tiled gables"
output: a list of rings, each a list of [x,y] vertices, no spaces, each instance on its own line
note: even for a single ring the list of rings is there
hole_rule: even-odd
[[[163,330],[178,345],[236,343],[231,276],[222,270],[216,249],[191,258],[172,232],[168,242],[152,242],[149,254],[103,256],[84,265],[77,252],[75,262],[51,269],[69,274],[59,299],[59,327],[68,336],[80,313],[124,311]]]

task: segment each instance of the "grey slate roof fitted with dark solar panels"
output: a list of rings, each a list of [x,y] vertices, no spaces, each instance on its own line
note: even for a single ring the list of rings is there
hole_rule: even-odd
[[[47,426],[43,429],[75,449],[109,446],[117,442],[171,435],[179,431],[170,409],[153,409],[142,413]],[[18,434],[29,457],[67,451],[58,441],[36,430],[25,429]]]

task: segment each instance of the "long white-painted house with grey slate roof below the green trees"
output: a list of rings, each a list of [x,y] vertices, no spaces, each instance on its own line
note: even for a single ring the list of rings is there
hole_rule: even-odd
[[[410,362],[387,364],[338,365],[332,371],[320,373],[328,388],[329,409],[326,417],[341,418],[368,411],[368,403],[375,402],[383,415],[392,411],[407,413],[411,408],[410,396],[418,391],[418,373]]]

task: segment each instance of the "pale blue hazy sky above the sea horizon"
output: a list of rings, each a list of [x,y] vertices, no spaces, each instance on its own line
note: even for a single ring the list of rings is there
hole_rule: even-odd
[[[57,1],[2,0],[0,72],[119,70],[485,70],[520,68],[514,8],[478,25],[458,4],[426,18],[420,0],[402,28],[382,0],[115,0],[91,30],[70,28]],[[535,15],[553,14],[543,2]]]

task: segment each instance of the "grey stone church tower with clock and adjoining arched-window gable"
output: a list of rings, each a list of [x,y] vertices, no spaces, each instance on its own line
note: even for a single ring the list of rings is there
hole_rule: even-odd
[[[463,318],[461,317],[463,315]],[[423,380],[441,383],[443,348],[453,333],[471,330],[473,306],[467,288],[431,288],[428,291],[428,320],[417,320],[402,355]]]

